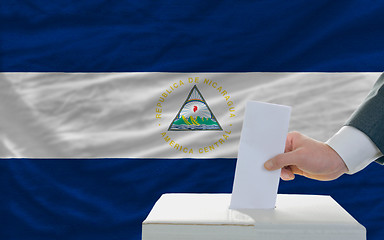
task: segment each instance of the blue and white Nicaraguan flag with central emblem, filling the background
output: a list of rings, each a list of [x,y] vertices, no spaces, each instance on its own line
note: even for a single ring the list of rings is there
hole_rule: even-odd
[[[251,100],[327,140],[383,70],[382,5],[3,1],[0,239],[138,240],[161,194],[230,193]],[[332,195],[382,239],[381,176],[279,191]]]

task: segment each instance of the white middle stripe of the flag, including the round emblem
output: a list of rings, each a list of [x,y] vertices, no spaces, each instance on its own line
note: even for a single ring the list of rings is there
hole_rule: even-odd
[[[236,158],[249,100],[324,141],[379,75],[1,73],[0,157]]]

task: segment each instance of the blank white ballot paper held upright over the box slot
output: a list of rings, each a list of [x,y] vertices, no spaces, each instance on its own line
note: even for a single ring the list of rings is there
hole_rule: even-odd
[[[284,152],[291,107],[248,102],[231,197],[231,209],[275,208],[281,170],[264,163]]]

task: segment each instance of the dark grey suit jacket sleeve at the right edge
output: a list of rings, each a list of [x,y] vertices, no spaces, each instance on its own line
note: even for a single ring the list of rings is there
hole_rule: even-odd
[[[364,132],[384,153],[384,73],[345,125]],[[384,157],[376,162],[383,164]]]

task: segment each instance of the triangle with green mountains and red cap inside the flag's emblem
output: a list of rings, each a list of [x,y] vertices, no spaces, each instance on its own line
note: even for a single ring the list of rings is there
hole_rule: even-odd
[[[222,131],[197,86],[193,86],[168,131]]]

